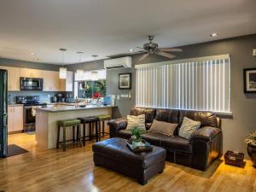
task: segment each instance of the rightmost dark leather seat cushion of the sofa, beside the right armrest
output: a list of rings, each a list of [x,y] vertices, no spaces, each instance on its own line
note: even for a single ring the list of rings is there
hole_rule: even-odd
[[[162,140],[162,146],[167,150],[170,149],[172,151],[179,151],[184,153],[192,153],[192,145],[189,143],[188,139],[184,139],[183,137],[165,137]]]

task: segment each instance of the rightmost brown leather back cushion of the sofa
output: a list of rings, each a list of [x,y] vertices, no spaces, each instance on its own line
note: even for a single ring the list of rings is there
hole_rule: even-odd
[[[179,125],[182,124],[183,118],[187,117],[201,122],[202,126],[218,127],[218,120],[215,113],[210,112],[194,112],[194,111],[179,111]]]

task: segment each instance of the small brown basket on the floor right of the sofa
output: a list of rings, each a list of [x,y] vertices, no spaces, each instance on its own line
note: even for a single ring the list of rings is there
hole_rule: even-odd
[[[230,166],[243,166],[244,154],[236,151],[227,151],[224,154],[225,164]]]

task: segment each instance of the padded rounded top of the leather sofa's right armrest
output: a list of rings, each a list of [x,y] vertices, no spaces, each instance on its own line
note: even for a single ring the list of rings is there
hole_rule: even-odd
[[[192,143],[193,140],[203,140],[205,142],[210,142],[212,138],[216,137],[220,132],[221,130],[218,129],[217,127],[212,127],[212,126],[201,127],[200,129],[192,133],[192,136],[190,138],[190,143]]]

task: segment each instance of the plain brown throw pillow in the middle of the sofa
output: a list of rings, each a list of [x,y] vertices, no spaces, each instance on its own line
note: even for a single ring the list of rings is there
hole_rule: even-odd
[[[158,132],[166,136],[173,136],[173,132],[177,128],[177,124],[167,123],[165,121],[158,121],[154,119],[149,131]]]

